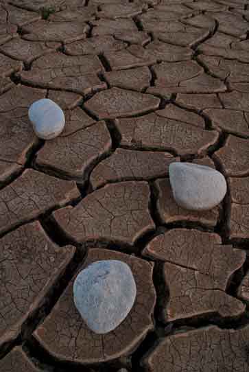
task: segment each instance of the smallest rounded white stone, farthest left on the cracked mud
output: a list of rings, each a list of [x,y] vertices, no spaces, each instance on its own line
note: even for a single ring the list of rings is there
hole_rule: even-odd
[[[43,98],[29,107],[29,120],[37,137],[53,139],[60,135],[65,125],[65,117],[58,104]]]

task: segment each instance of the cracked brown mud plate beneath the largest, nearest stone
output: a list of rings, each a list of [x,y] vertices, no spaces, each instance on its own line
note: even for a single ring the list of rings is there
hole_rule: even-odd
[[[60,360],[88,364],[127,356],[153,328],[152,314],[156,301],[153,264],[123,253],[96,248],[89,251],[82,268],[102,259],[118,259],[130,266],[137,284],[137,299],[130,314],[117,329],[104,335],[94,334],[75,308],[72,280],[51,314],[34,332],[36,340]]]

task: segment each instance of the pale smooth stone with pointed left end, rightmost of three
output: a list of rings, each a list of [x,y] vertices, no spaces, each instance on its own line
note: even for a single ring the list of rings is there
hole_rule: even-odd
[[[226,195],[223,174],[204,165],[171,163],[169,181],[177,204],[193,211],[212,209]]]

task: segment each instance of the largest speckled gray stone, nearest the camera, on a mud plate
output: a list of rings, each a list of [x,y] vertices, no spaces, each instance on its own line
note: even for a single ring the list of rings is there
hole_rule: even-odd
[[[96,261],[73,283],[74,303],[88,327],[106,334],[128,316],[137,295],[130,267],[115,259]]]

